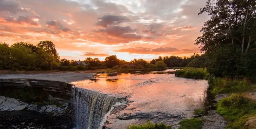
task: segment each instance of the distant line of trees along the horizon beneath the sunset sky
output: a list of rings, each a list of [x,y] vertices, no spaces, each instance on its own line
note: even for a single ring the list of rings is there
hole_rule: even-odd
[[[51,41],[40,41],[37,45],[17,42],[9,46],[0,42],[0,69],[4,70],[87,70],[103,68],[163,70],[166,67],[204,67],[204,55],[191,57],[164,56],[147,62],[134,59],[130,62],[117,59],[115,55],[107,56],[104,61],[87,57],[83,60],[87,66],[74,65],[75,60],[60,59]]]

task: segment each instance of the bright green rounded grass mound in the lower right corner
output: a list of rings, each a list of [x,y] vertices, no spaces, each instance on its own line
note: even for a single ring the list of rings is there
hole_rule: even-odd
[[[226,129],[242,129],[250,117],[256,116],[256,102],[242,94],[231,94],[217,103],[217,113],[229,121]]]

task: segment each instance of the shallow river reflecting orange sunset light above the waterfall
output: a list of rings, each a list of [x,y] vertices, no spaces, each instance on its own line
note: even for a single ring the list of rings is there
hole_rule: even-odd
[[[98,74],[95,79],[72,84],[112,96],[129,96],[132,102],[121,112],[109,116],[106,126],[113,129],[124,129],[148,118],[153,122],[175,124],[192,117],[194,109],[203,107],[208,86],[205,80],[178,78],[169,73]]]

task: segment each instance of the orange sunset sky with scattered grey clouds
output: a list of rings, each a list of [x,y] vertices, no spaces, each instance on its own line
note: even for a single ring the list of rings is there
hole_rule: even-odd
[[[50,40],[61,58],[191,56],[206,0],[0,0],[0,42]]]

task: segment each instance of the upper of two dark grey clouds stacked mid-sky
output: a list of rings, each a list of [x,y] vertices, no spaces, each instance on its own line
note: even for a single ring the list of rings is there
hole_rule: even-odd
[[[129,22],[130,20],[126,16],[104,15],[95,25],[107,28],[108,25],[118,25],[122,22]]]

